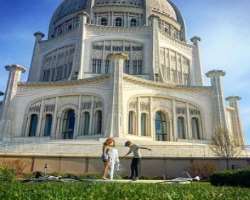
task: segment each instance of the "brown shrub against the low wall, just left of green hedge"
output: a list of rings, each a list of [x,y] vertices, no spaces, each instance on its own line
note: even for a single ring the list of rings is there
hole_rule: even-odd
[[[188,169],[192,177],[200,176],[203,179],[209,178],[215,171],[215,164],[208,161],[193,161]]]

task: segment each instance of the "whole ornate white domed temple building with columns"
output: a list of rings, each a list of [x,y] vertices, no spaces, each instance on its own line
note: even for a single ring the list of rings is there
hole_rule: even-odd
[[[170,0],[64,0],[34,34],[27,82],[6,66],[1,155],[98,158],[114,137],[149,158],[203,157],[216,127],[244,145],[240,98],[225,99],[222,70],[203,84],[201,39],[185,29]]]

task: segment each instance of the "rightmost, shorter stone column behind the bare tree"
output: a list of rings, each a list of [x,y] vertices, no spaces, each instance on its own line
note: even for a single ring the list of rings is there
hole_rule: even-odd
[[[234,108],[234,113],[233,113],[233,131],[234,131],[234,136],[235,139],[238,143],[238,145],[245,145],[244,142],[244,134],[243,134],[243,129],[242,129],[242,124],[241,124],[241,119],[240,119],[240,109],[239,109],[239,101],[241,100],[240,97],[238,96],[230,96],[227,97],[226,100],[229,102],[229,106]]]

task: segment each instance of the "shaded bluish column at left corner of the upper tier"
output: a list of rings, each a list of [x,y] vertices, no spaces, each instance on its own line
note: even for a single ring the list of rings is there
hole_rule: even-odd
[[[29,77],[28,82],[34,82],[40,80],[40,68],[41,68],[41,55],[40,55],[40,43],[42,42],[42,39],[44,38],[44,34],[42,32],[36,32],[34,33],[35,37],[35,45],[31,60],[31,66],[29,70]]]

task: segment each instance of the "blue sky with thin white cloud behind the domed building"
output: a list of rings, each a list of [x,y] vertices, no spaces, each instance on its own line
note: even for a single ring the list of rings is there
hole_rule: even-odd
[[[29,68],[33,33],[47,34],[53,11],[62,0],[0,0],[0,91],[5,91],[8,73],[4,66]],[[250,1],[172,0],[186,22],[187,38],[197,35],[203,72],[226,71],[225,97],[238,95],[246,143],[250,144]],[[27,79],[28,73],[22,79]],[[205,84],[209,80],[205,78]]]

